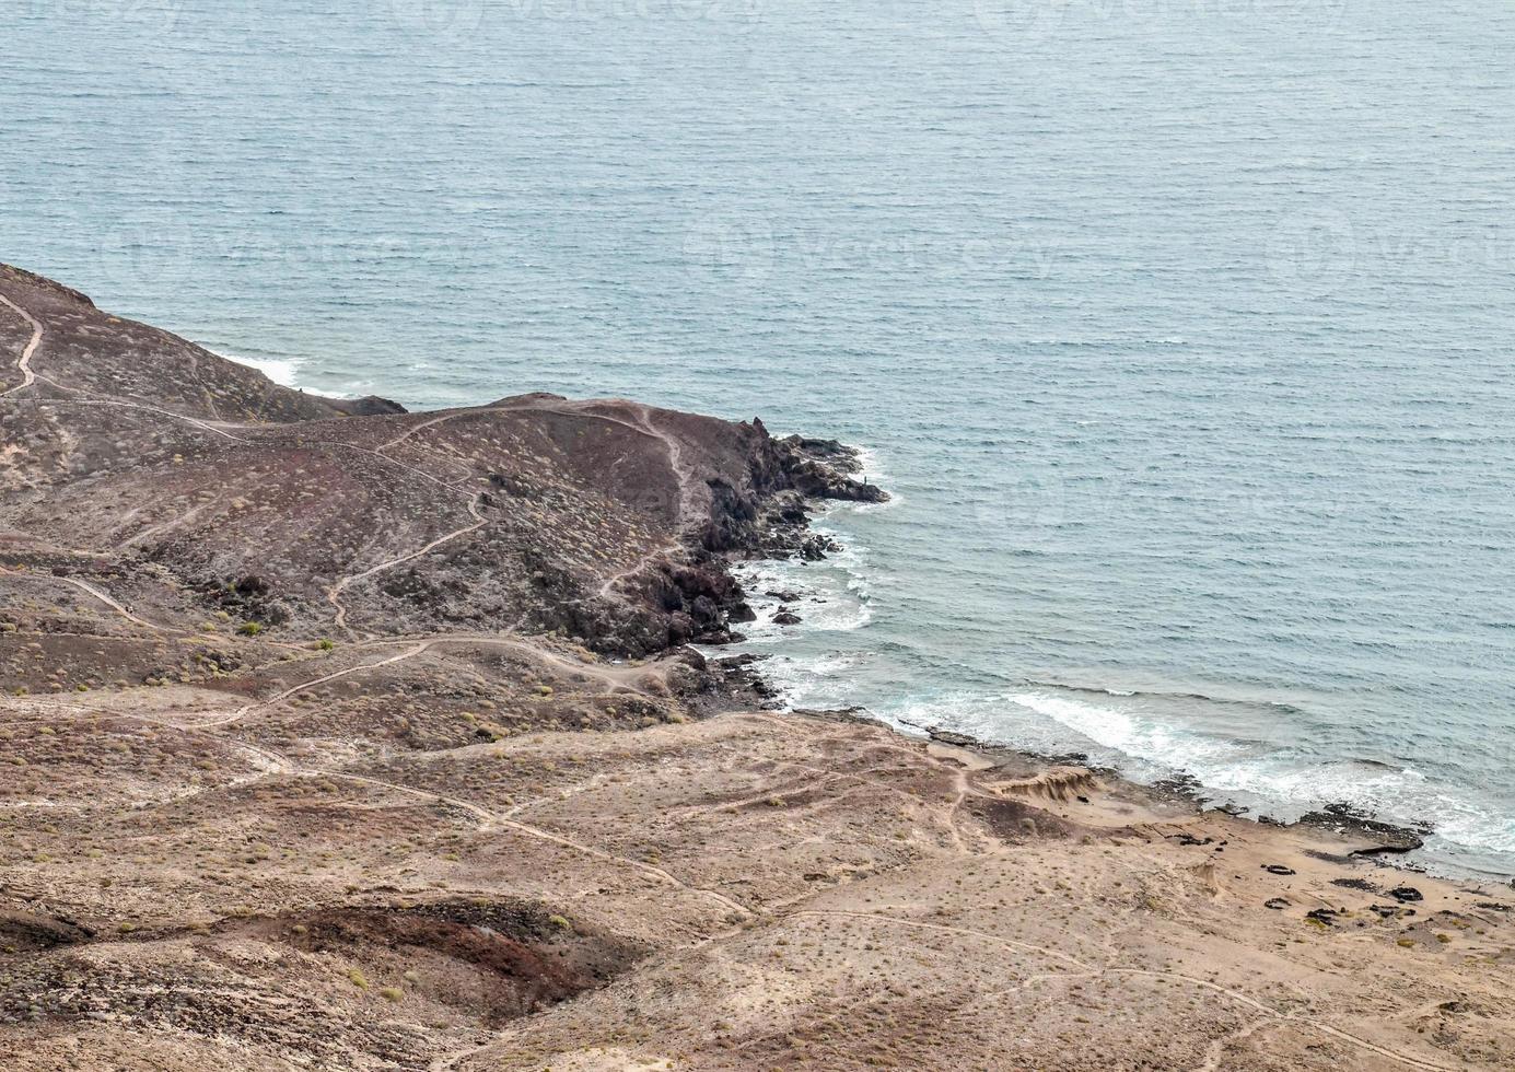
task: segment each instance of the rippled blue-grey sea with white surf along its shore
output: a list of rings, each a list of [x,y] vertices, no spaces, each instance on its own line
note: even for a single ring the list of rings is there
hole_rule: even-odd
[[[862,444],[898,500],[751,568],[791,703],[1515,874],[1507,0],[0,21],[0,259],[309,389]]]

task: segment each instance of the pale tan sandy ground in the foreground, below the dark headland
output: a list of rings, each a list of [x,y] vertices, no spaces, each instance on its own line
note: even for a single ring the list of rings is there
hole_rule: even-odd
[[[12,701],[130,760],[3,812],[5,1067],[1515,1067],[1510,890],[1314,831],[774,713],[168,728],[221,703]]]

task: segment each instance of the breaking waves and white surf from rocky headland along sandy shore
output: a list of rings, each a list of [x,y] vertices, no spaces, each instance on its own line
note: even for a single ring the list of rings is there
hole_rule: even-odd
[[[865,450],[861,460],[870,481],[888,486],[877,451]],[[982,668],[954,672],[935,657],[930,668],[921,668],[917,648],[895,651],[898,645],[886,630],[877,639],[829,639],[829,633],[856,633],[874,615],[874,554],[856,536],[865,525],[853,521],[865,509],[829,504],[820,515],[815,531],[841,545],[823,562],[738,568],[759,615],[742,631],[750,647],[768,656],[762,672],[785,706],[864,703],[904,731],[939,725],[1029,753],[1086,754],[1089,762],[1112,766],[1135,781],[1186,774],[1217,802],[1286,821],[1347,801],[1389,822],[1429,824],[1433,833],[1420,862],[1433,868],[1477,869],[1480,862],[1515,854],[1515,816],[1479,799],[1476,787],[1417,769],[1409,760],[1374,759],[1371,749],[1360,757],[1315,749],[1312,727],[1324,731],[1330,719],[1323,721],[1295,696],[1279,698],[1262,689],[1257,695],[1229,696],[1153,689],[1144,681],[1106,686],[1011,674],[983,680],[973,674]],[[771,622],[779,601],[765,597],[768,591],[800,597],[789,604],[800,625]],[[957,687],[936,690],[927,684],[944,680]],[[918,692],[923,684],[926,695]]]

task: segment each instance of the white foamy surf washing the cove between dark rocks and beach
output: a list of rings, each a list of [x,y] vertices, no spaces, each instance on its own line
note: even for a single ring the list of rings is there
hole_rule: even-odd
[[[889,477],[877,451],[859,454],[871,483],[888,488]],[[892,495],[891,489],[891,495]],[[894,497],[898,503],[898,495]],[[883,504],[888,506],[888,504]],[[812,642],[826,631],[851,631],[871,616],[868,550],[848,531],[854,512],[873,504],[830,504],[818,534],[842,550],[820,563],[756,562],[739,566],[742,584],[759,615],[741,627],[748,644],[770,654],[764,674],[791,707],[841,706],[851,700],[853,680],[871,656],[857,651],[815,653]],[[780,603],[765,592],[794,592],[791,603],[801,624],[771,622]],[[786,644],[794,642],[794,644]],[[897,704],[871,703],[876,715],[900,728],[941,725],[1033,753],[1089,753],[1094,762],[1120,768],[1127,777],[1151,781],[1177,772],[1195,777],[1212,795],[1232,799],[1280,819],[1335,801],[1350,801],[1391,822],[1430,822],[1435,848],[1515,854],[1515,816],[1498,815],[1459,792],[1432,784],[1413,769],[1321,760],[1300,749],[1226,736],[1227,719],[1195,712],[1186,725],[1173,701],[1204,703],[1203,696],[1164,696],[1150,703],[1129,689],[1065,689],[1032,684],[1011,692],[954,692],[901,698]],[[1204,728],[1200,728],[1200,727]],[[1260,734],[1267,736],[1267,734]]]

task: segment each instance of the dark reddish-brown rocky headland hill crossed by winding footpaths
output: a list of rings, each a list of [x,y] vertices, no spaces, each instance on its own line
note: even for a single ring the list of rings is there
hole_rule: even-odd
[[[761,422],[541,394],[355,418],[35,276],[0,270],[0,298],[24,351],[0,524],[17,551],[77,551],[83,580],[132,575],[180,628],[229,612],[292,640],[556,630],[645,654],[721,633],[736,592],[709,551],[754,548],[797,485],[871,492],[817,485]]]

